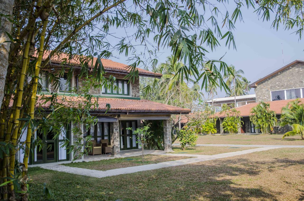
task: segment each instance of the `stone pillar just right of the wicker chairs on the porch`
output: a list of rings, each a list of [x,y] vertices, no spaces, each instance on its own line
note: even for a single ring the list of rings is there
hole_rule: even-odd
[[[110,135],[111,135],[111,149],[112,157],[121,157],[120,155],[120,139],[119,139],[119,123],[120,121],[113,122],[110,124]]]

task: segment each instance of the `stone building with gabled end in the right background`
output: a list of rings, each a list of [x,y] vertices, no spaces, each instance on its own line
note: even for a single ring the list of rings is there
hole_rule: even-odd
[[[254,88],[257,103],[250,103],[236,107],[240,111],[240,116],[244,124],[239,128],[238,133],[259,133],[258,129],[249,120],[251,109],[259,102],[264,101],[270,104],[270,109],[275,111],[277,118],[280,118],[282,107],[286,106],[292,99],[300,98],[304,102],[304,61],[295,60],[292,63],[266,75],[265,77],[250,84]],[[223,134],[221,126],[224,114],[216,113],[219,117],[217,122],[217,131]],[[290,131],[291,126],[275,126],[274,133],[286,133]]]

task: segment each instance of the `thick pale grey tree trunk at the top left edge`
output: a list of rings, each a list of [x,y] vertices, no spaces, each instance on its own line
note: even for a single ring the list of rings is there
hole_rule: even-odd
[[[0,2],[0,12],[3,15],[10,15],[10,19],[12,19],[13,13],[13,0],[2,0]],[[7,67],[9,66],[9,47],[10,43],[5,43],[5,41],[10,41],[7,33],[11,34],[12,31],[12,22],[9,21],[6,17],[1,18],[1,26],[0,26],[0,108],[2,105],[2,100],[4,96],[4,85],[5,85],[5,77],[7,73]],[[7,32],[7,33],[6,33]]]

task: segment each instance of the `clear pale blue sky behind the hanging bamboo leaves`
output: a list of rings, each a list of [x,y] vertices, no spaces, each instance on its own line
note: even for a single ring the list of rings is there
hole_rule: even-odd
[[[234,9],[234,6],[228,7],[229,9]],[[299,36],[295,35],[293,30],[284,30],[282,26],[278,31],[271,28],[273,15],[269,22],[259,19],[252,8],[243,9],[242,15],[244,22],[236,22],[233,32],[237,49],[228,49],[222,43],[222,46],[207,54],[209,59],[219,59],[225,55],[222,60],[228,65],[234,65],[237,70],[242,69],[244,77],[251,83],[283,66],[282,48],[284,65],[297,59],[304,60],[304,39],[299,41]],[[159,63],[165,62],[166,57],[170,55],[170,49],[161,50]],[[111,59],[128,63],[123,55]],[[206,93],[204,89],[202,92]],[[249,94],[254,94],[254,90],[250,90]],[[216,97],[225,96],[225,91],[218,90]]]

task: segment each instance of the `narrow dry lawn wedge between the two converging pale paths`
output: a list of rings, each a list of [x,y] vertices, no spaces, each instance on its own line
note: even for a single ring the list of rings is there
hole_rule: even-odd
[[[215,155],[227,152],[237,152],[257,147],[188,147],[182,150],[181,147],[172,147],[174,154],[199,154],[199,155]]]

